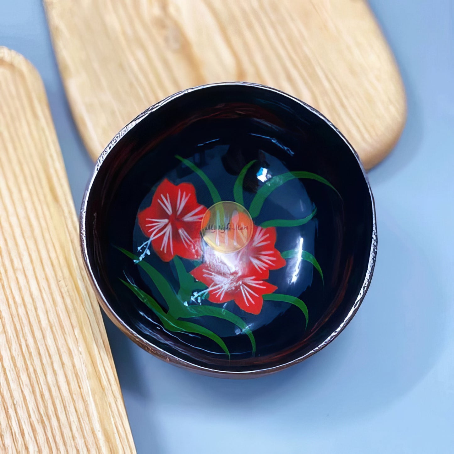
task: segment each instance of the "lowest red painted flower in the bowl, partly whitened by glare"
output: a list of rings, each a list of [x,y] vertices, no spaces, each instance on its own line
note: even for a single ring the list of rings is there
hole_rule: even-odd
[[[208,300],[212,303],[233,300],[243,311],[259,314],[263,295],[276,291],[277,287],[255,275],[242,274],[234,255],[217,254],[216,259],[197,266],[191,274],[208,286]]]

